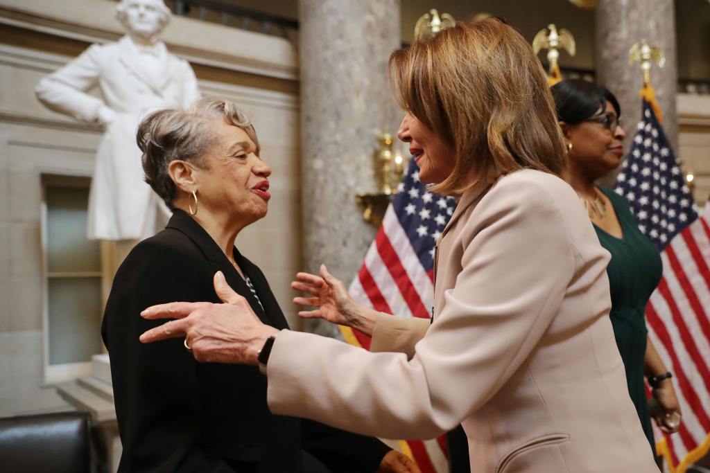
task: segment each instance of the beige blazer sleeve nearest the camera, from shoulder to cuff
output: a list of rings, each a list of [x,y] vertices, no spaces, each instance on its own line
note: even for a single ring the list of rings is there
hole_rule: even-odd
[[[493,187],[464,223],[462,270],[412,360],[282,330],[267,365],[271,410],[427,439],[496,394],[542,338],[574,274],[555,196],[539,182],[509,184]]]

